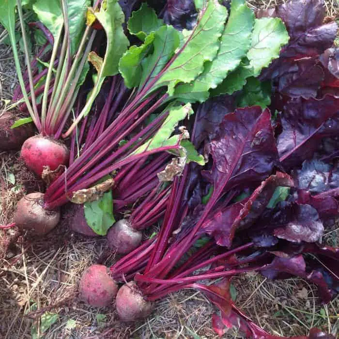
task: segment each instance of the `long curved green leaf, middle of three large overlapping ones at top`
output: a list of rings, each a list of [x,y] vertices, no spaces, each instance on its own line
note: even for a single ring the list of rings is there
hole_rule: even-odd
[[[209,90],[215,89],[246,56],[253,26],[253,12],[243,0],[233,0],[216,57],[212,62],[205,63],[203,72],[193,82],[179,84],[174,95],[184,101],[205,101]]]

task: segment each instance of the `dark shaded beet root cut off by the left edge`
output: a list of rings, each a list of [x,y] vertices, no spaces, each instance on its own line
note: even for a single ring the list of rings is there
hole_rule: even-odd
[[[15,110],[5,111],[0,115],[0,151],[18,150],[23,142],[33,135],[32,123],[11,128],[20,115]]]

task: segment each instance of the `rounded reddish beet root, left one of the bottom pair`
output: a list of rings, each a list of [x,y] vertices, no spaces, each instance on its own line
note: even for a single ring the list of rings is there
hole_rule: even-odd
[[[108,307],[118,292],[118,286],[105,265],[94,264],[82,274],[80,299],[94,307]]]

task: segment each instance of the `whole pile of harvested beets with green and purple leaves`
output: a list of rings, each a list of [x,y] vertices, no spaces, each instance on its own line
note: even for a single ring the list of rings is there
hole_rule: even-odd
[[[43,2],[33,4],[39,19]],[[40,133],[21,155],[47,189],[18,202],[11,226],[44,235],[65,206],[72,231],[107,235],[120,259],[90,266],[79,293],[115,305],[124,322],[193,289],[216,306],[218,335],[280,338],[234,304],[230,283],[255,271],[300,277],[321,303],[339,292],[339,248],[323,241],[339,216],[334,18],[322,0],[255,13],[242,0],[83,2],[73,47],[72,0],[60,1],[57,35],[35,23],[47,41],[14,100]],[[4,148],[32,133],[10,128],[10,113],[0,116]],[[312,328],[293,338],[335,337]]]

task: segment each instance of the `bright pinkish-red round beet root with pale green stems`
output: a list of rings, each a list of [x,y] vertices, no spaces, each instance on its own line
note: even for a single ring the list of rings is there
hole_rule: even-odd
[[[44,166],[49,166],[49,169],[53,171],[59,165],[67,165],[69,150],[60,141],[34,136],[27,139],[22,145],[21,157],[26,166],[41,177]]]

